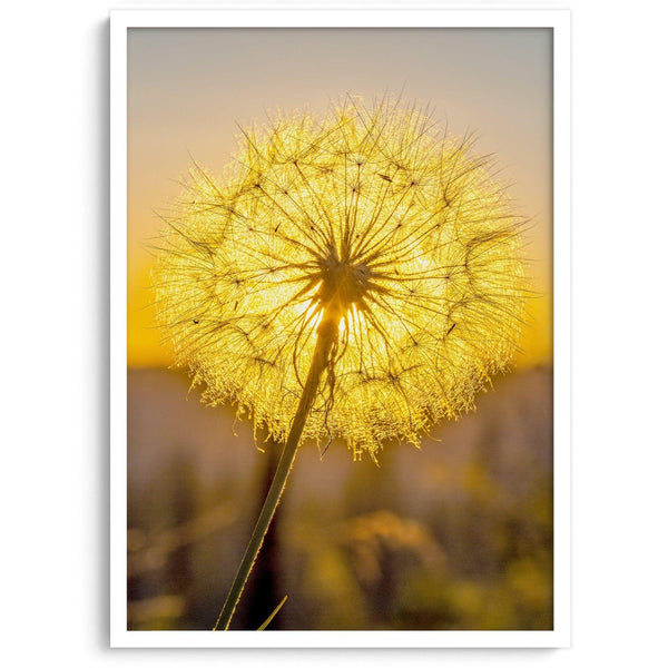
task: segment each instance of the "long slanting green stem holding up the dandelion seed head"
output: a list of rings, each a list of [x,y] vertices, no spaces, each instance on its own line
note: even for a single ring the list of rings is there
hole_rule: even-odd
[[[287,440],[285,441],[285,446],[283,448],[283,453],[281,454],[281,460],[278,461],[278,466],[276,468],[272,487],[267,492],[259,518],[257,519],[257,523],[253,530],[253,536],[250,537],[248,547],[246,548],[246,552],[242,559],[242,563],[239,564],[239,569],[234,578],[234,582],[232,583],[229,593],[225,600],[225,605],[220,610],[216,626],[213,629],[214,631],[217,631],[219,628],[223,628],[224,630],[229,628],[232,616],[234,615],[234,610],[242,596],[246,580],[248,579],[250,570],[253,569],[253,563],[257,558],[257,553],[259,552],[264,541],[265,533],[272,523],[272,518],[276,512],[278,501],[281,501],[281,495],[283,494],[285,483],[287,482],[287,477],[289,475],[293,462],[295,461],[302,432],[304,431],[306,419],[308,418],[308,413],[313,407],[313,402],[315,401],[317,394],[321,375],[327,366],[332,346],[334,345],[336,336],[338,335],[336,324],[332,318],[326,317],[326,315],[327,314],[325,313],[325,316],[323,317],[323,321],[317,330],[317,341],[315,343],[315,352],[313,353],[311,369],[308,370],[308,375],[306,376],[306,383],[304,383],[304,390],[302,391],[299,405],[297,406],[295,419],[293,420],[289,433],[287,434]]]

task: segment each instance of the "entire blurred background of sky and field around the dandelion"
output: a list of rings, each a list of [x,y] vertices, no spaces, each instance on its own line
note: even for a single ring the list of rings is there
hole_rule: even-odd
[[[552,628],[552,38],[547,29],[130,29],[128,626],[214,625],[279,448],[170,370],[147,250],[191,159],[219,170],[238,128],[347,92],[429,104],[495,154],[537,296],[515,370],[475,413],[380,466],[304,443],[232,628]],[[191,157],[190,157],[191,156]]]

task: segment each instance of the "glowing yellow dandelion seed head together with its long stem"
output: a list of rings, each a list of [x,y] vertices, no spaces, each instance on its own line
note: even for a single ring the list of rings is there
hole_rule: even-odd
[[[347,98],[243,130],[219,178],[190,169],[158,253],[158,322],[204,401],[285,443],[237,579],[302,439],[374,460],[418,445],[508,367],[523,220],[471,145],[416,107]]]

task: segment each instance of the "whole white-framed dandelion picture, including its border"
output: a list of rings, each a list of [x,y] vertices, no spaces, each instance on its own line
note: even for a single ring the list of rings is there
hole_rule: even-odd
[[[111,646],[570,642],[568,11],[111,12]]]

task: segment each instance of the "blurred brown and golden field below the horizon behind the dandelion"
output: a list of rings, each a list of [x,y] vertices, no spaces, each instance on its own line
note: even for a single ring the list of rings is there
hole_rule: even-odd
[[[128,623],[210,629],[277,451],[188,380],[128,371]],[[552,373],[497,379],[478,411],[380,466],[302,446],[232,628],[551,629]]]

